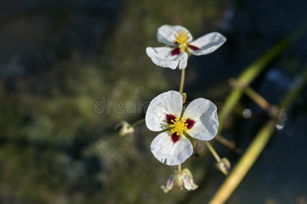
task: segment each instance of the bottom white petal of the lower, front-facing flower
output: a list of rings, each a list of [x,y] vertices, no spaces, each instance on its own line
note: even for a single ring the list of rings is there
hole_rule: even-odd
[[[170,132],[162,132],[151,142],[150,150],[161,163],[178,165],[192,155],[193,146],[184,136],[174,144]]]

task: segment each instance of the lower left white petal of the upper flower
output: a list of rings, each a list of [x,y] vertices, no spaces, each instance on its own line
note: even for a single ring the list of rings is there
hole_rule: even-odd
[[[180,54],[172,55],[173,49],[170,47],[147,47],[146,53],[152,62],[158,66],[169,67],[175,70],[178,63],[187,58],[187,53],[181,52]],[[183,66],[184,64],[181,65],[181,67]]]

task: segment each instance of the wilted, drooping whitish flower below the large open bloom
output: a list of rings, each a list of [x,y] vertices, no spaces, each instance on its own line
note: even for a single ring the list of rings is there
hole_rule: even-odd
[[[166,186],[162,185],[161,189],[167,193],[173,188],[173,185],[175,183],[176,188],[182,190],[183,187],[190,190],[195,190],[198,188],[198,185],[194,183],[193,175],[190,172],[189,169],[184,169],[181,172],[176,172],[175,174],[172,174],[170,178],[168,179]]]

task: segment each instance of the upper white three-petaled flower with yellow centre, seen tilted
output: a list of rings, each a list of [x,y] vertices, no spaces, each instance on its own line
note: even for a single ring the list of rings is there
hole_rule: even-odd
[[[152,62],[158,66],[169,67],[173,70],[179,64],[179,69],[185,69],[188,56],[209,54],[220,47],[226,38],[212,32],[193,40],[192,35],[183,26],[163,25],[158,29],[159,42],[167,44],[165,47],[147,47],[146,53]]]

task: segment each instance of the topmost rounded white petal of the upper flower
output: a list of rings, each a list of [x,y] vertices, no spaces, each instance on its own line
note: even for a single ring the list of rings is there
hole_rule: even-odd
[[[184,30],[185,32],[189,32],[188,29],[186,29],[183,26],[171,26],[171,25],[163,25],[160,28],[158,28],[157,32],[157,38],[158,42],[165,43],[170,46],[175,46],[175,34],[177,34],[177,31],[179,30]],[[188,42],[191,42],[193,40],[193,37],[191,33],[189,32],[188,37]]]

